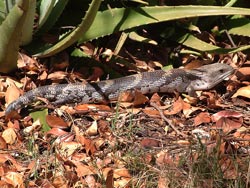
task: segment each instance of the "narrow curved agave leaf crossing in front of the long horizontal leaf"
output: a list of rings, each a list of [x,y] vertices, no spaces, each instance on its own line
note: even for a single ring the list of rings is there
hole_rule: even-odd
[[[101,4],[101,0],[93,0],[82,22],[74,31],[72,31],[70,34],[63,37],[56,45],[43,51],[42,53],[35,54],[34,56],[38,56],[38,57],[51,56],[64,50],[65,48],[69,47],[73,43],[75,43],[80,38],[82,33],[85,33],[92,25],[100,4]]]

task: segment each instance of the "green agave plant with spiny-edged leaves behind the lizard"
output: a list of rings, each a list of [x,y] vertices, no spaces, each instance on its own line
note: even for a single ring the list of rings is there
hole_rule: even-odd
[[[136,28],[150,24],[172,21],[183,18],[219,15],[250,15],[247,8],[221,6],[147,6],[143,1],[140,7],[106,8],[99,10],[101,0],[92,0],[88,10],[79,25],[67,34],[63,34],[55,44],[40,44],[33,46],[34,35],[40,36],[50,30],[65,9],[68,0],[18,0],[9,4],[9,1],[0,0],[0,72],[8,73],[16,68],[20,46],[32,46],[32,55],[37,57],[52,56],[74,43],[84,43],[119,31],[130,29],[133,33]],[[12,7],[12,8],[11,8]],[[35,14],[39,15],[34,29]],[[9,12],[8,12],[9,11]],[[236,35],[250,37],[250,21],[240,18],[241,25],[235,25],[235,20],[228,19],[229,32]],[[238,20],[239,21],[239,20]],[[234,25],[233,25],[234,24]],[[138,39],[138,36],[136,37]],[[216,53],[232,53],[248,49],[250,46],[222,49],[205,43],[190,33],[175,36],[175,40],[197,51]],[[122,44],[118,44],[122,45]],[[199,48],[197,49],[197,46]]]

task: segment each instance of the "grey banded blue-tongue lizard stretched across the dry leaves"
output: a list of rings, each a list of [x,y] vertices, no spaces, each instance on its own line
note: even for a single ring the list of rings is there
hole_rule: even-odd
[[[70,83],[45,85],[30,90],[11,102],[5,115],[45,98],[53,105],[65,103],[96,103],[117,100],[125,91],[138,90],[142,94],[180,92],[193,95],[197,90],[209,90],[228,78],[234,69],[226,64],[214,63],[199,68],[143,72],[96,83]]]

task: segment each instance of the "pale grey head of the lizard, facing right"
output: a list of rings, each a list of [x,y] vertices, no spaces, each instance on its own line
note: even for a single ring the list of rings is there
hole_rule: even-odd
[[[213,88],[233,74],[234,69],[226,64],[214,63],[188,70],[187,72],[196,77],[187,88],[188,91],[192,92]]]

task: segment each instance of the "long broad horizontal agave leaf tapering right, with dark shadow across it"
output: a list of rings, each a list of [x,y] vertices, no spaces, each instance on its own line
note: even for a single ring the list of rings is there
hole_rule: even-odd
[[[110,35],[133,27],[197,16],[250,15],[250,9],[218,6],[161,6],[117,8],[98,12],[90,29],[79,43]],[[101,28],[101,29],[100,29]]]

